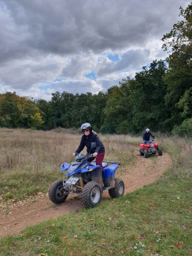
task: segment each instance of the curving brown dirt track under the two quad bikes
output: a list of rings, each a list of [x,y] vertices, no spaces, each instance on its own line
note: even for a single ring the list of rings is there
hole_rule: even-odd
[[[138,151],[134,150],[134,154],[136,156],[135,163],[117,175],[125,183],[125,194],[154,182],[166,168],[172,165],[171,157],[165,152],[161,157],[153,155],[147,159],[139,156]],[[103,198],[110,198],[108,192],[103,194]],[[74,195],[69,195],[65,203],[60,205],[55,205],[48,197],[44,197],[29,206],[18,206],[9,215],[1,216],[0,237],[18,234],[27,226],[76,211],[82,207],[80,197]]]

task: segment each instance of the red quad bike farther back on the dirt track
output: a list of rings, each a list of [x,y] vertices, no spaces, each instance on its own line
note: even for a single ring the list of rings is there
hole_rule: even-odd
[[[158,147],[158,142],[153,143],[154,140],[150,140],[147,142],[147,144],[140,143],[140,156],[143,156],[145,158],[148,157],[149,154],[158,154],[162,156],[162,149]]]

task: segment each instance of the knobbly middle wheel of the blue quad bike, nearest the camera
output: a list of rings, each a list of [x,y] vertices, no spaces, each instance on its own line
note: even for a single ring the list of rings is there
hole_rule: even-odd
[[[102,189],[98,183],[94,181],[88,182],[82,192],[82,201],[86,208],[96,207],[101,201]]]

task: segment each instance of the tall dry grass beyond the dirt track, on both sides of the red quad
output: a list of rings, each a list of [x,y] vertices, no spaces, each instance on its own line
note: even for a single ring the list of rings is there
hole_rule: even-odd
[[[118,161],[126,167],[134,163],[131,144],[139,149],[142,137],[108,134],[99,137],[105,145],[104,160]],[[191,139],[160,133],[156,137],[163,151],[173,159],[167,175],[191,178]],[[52,131],[0,128],[0,196],[17,200],[46,192],[52,181],[64,177],[59,167],[65,161],[74,161],[72,153],[80,140],[81,135],[76,131],[63,128]],[[84,149],[82,153],[85,152]]]

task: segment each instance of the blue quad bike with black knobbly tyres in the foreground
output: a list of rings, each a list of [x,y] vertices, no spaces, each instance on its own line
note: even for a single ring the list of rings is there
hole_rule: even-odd
[[[117,162],[104,161],[102,166],[95,162],[88,162],[91,154],[76,154],[76,162],[63,163],[61,171],[67,171],[68,180],[56,180],[49,188],[49,199],[55,204],[61,204],[69,194],[81,195],[86,208],[93,208],[98,205],[102,198],[102,192],[108,190],[112,198],[124,194],[124,182],[115,178]]]

